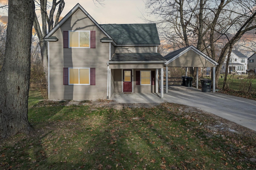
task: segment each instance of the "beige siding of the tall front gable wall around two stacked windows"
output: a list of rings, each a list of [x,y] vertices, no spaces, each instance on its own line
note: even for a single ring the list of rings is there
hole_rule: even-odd
[[[63,31],[96,31],[96,48],[63,48]],[[109,43],[101,43],[106,35],[78,9],[52,35],[58,42],[49,45],[49,98],[51,100],[89,100],[105,99],[107,94],[107,61],[109,61]],[[95,68],[96,85],[63,85],[63,68]]]

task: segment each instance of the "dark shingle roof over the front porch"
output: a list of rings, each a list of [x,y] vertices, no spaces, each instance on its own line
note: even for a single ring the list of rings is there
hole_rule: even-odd
[[[166,61],[159,53],[115,53],[110,61]]]

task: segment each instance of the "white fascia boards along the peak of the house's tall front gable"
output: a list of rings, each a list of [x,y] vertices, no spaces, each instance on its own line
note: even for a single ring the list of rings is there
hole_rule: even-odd
[[[44,38],[48,38],[48,37],[50,37],[55,31],[57,31],[59,28],[60,28],[60,26],[71,16],[71,15],[73,15],[74,14],[74,12],[76,12],[77,11],[77,9],[78,8],[80,8],[83,12],[84,12],[84,14],[86,14],[91,20],[92,20],[92,22],[95,24],[95,25],[97,25],[97,27],[106,35],[106,36],[108,36],[109,38],[111,38],[110,37],[110,35],[105,31],[105,30],[103,30],[103,28],[101,28],[101,26],[88,14],[88,12],[86,11],[86,10],[84,10],[84,8],[80,5],[80,4],[77,4],[76,6],[74,6],[74,8],[73,9],[71,9],[71,11],[69,11],[69,13],[44,37]],[[112,39],[112,38],[111,38]]]

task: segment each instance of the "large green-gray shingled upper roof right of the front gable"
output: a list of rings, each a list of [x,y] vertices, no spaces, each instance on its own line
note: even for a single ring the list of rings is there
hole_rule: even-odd
[[[100,24],[118,45],[159,45],[155,23]]]

